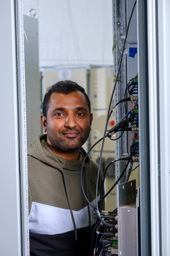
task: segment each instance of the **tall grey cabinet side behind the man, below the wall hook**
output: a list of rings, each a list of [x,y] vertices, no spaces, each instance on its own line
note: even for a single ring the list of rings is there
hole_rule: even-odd
[[[26,66],[27,142],[30,145],[41,133],[40,79],[38,59],[38,19],[23,16]],[[27,41],[28,39],[28,41]]]

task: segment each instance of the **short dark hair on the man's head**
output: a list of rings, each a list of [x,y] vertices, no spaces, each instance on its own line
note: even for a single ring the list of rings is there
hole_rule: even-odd
[[[86,92],[83,87],[77,84],[77,82],[72,82],[70,80],[64,80],[56,82],[55,85],[52,85],[51,87],[48,87],[45,93],[45,97],[42,104],[42,113],[47,118],[47,110],[48,110],[48,103],[50,100],[50,96],[53,92],[59,92],[64,93],[68,95],[70,92],[80,91],[82,92],[87,100],[87,104],[89,107],[89,112],[91,113],[91,104],[88,95],[86,95]]]

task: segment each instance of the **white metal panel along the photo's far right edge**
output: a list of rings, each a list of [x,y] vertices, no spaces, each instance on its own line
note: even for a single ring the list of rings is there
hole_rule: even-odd
[[[160,156],[161,156],[161,220],[162,254],[170,253],[170,133],[169,133],[169,70],[170,70],[170,1],[158,1],[159,20],[159,105],[160,105]]]

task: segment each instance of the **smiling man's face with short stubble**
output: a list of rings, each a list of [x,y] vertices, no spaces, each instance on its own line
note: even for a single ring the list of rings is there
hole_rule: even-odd
[[[52,93],[47,110],[47,119],[42,116],[47,143],[57,151],[80,149],[89,137],[92,114],[82,92]]]

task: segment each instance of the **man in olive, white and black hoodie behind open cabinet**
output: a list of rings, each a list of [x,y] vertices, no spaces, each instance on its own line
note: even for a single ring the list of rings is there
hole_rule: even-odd
[[[81,191],[81,146],[91,130],[89,97],[72,81],[47,90],[41,116],[44,132],[28,149],[30,255],[90,256],[94,209]],[[87,157],[83,184],[95,205],[98,166]],[[101,190],[100,176],[98,195]]]

